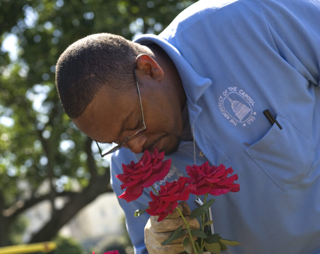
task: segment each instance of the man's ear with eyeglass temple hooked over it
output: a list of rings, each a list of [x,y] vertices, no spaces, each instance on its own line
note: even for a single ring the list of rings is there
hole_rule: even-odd
[[[159,64],[148,54],[140,54],[136,57],[137,69],[141,74],[150,76],[152,79],[161,81],[164,72]]]

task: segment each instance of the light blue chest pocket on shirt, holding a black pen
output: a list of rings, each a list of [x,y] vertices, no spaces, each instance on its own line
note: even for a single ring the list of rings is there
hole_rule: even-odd
[[[279,113],[276,120],[282,130],[274,123],[261,140],[245,151],[281,189],[287,190],[308,174],[316,147],[283,114]]]

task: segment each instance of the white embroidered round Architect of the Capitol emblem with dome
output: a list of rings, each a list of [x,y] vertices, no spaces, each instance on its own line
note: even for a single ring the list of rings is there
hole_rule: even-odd
[[[254,100],[237,87],[229,87],[219,97],[219,110],[232,124],[243,123],[245,127],[251,124],[256,115],[253,111]]]

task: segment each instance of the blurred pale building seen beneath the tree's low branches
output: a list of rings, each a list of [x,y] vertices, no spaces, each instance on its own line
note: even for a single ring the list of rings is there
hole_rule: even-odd
[[[57,198],[57,207],[63,207],[67,202],[64,198]],[[22,236],[22,242],[28,243],[32,235],[38,232],[50,220],[51,204],[48,200],[28,209],[25,219],[28,226]],[[119,241],[125,233],[124,212],[119,206],[114,193],[104,193],[81,209],[59,231],[59,235],[74,238],[84,250],[96,253],[104,251],[108,245]],[[120,239],[120,240],[119,240]],[[126,253],[133,253],[130,248]]]

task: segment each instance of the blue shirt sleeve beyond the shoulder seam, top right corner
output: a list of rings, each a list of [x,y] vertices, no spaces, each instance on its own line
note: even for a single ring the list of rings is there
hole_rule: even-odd
[[[279,55],[309,83],[319,85],[320,2],[260,1]]]

